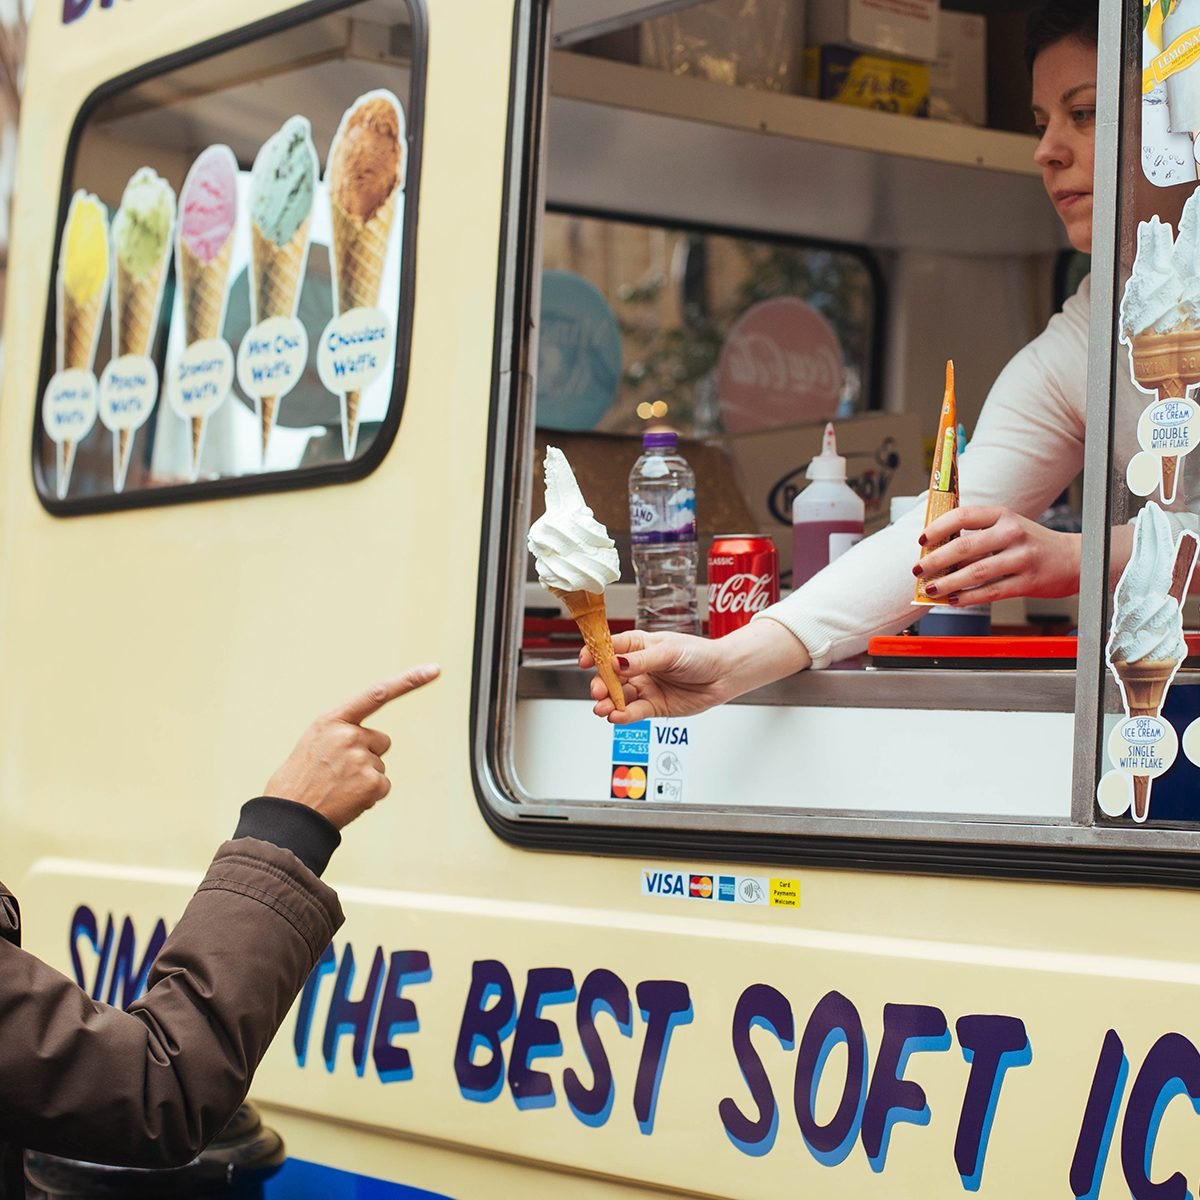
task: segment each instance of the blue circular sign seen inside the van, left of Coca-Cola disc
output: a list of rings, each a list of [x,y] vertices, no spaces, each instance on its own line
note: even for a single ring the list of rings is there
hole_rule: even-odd
[[[620,385],[620,326],[598,288],[570,271],[544,271],[538,343],[538,425],[582,433]]]

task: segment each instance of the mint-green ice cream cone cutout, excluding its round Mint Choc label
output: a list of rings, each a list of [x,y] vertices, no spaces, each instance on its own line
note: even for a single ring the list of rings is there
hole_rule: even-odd
[[[250,199],[250,301],[254,326],[276,318],[295,322],[308,262],[308,233],[317,193],[317,150],[312,143],[312,130],[304,116],[289,118],[266,140],[254,160]],[[247,340],[252,336],[253,330]],[[294,385],[294,372],[282,374],[289,379],[289,386]],[[245,378],[240,364],[239,377]],[[253,390],[265,466],[271,431],[278,415],[278,401],[286,389],[263,385]]]

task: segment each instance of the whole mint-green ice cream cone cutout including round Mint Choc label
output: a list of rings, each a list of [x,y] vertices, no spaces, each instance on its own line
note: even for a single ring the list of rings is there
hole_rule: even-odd
[[[238,382],[258,409],[264,466],[278,402],[296,385],[308,358],[308,335],[296,310],[308,264],[318,169],[312,127],[307,118],[292,116],[263,144],[251,172],[254,324],[238,348]]]

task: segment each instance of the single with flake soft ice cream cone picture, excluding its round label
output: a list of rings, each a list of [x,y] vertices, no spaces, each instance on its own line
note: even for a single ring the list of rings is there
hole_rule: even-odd
[[[1187,655],[1182,598],[1195,564],[1196,539],[1176,544],[1166,514],[1150,502],[1138,514],[1133,554],[1114,598],[1106,656],[1128,716],[1158,716]],[[1134,820],[1150,808],[1150,776],[1134,775]]]

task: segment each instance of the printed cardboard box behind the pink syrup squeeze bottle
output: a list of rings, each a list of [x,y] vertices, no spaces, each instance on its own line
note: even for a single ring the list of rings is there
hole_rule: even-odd
[[[874,533],[888,523],[893,496],[916,496],[929,487],[922,421],[916,414],[870,413],[834,424],[838,452],[846,458],[846,482],[863,497],[866,532]],[[733,461],[756,532],[775,540],[785,590],[792,571],[792,500],[808,484],[804,473],[821,452],[823,433],[824,422],[812,421],[719,439]]]

